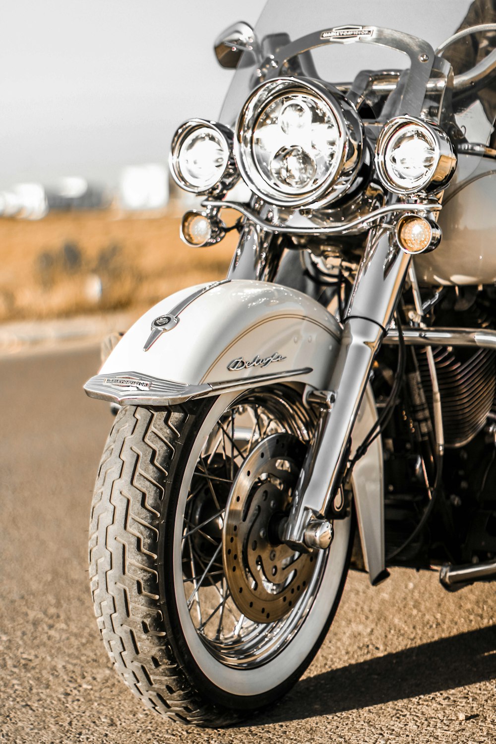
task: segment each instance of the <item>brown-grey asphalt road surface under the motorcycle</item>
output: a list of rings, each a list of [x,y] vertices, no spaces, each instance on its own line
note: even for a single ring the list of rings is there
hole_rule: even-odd
[[[160,744],[496,741],[496,597],[437,574],[350,574],[326,642],[269,715],[222,731],[142,707],[112,671],[86,572],[112,418],[81,385],[94,350],[0,363],[0,741]]]

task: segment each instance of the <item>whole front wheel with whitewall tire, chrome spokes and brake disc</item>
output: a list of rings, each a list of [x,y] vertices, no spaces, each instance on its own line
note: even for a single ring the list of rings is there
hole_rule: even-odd
[[[350,560],[277,540],[312,415],[292,388],[123,408],[97,477],[90,576],[117,673],[145,705],[219,726],[275,702],[321,646]]]

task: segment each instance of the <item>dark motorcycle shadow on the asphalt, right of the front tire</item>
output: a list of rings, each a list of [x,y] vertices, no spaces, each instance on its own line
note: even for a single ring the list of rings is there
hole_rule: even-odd
[[[307,677],[264,718],[329,716],[490,679],[496,679],[496,625]]]

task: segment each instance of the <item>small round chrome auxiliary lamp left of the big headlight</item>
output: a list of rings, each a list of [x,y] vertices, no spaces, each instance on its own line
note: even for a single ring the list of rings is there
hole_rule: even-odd
[[[233,162],[233,133],[223,124],[191,119],[173,137],[170,172],[186,191],[204,193],[221,182],[226,190],[238,176]]]

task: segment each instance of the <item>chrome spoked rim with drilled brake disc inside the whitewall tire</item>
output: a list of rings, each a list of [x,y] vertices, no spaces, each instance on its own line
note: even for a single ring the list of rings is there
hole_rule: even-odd
[[[219,417],[196,463],[184,595],[199,638],[224,664],[257,667],[277,655],[318,590],[327,554],[296,553],[271,535],[291,506],[313,426],[296,396],[251,392]]]

